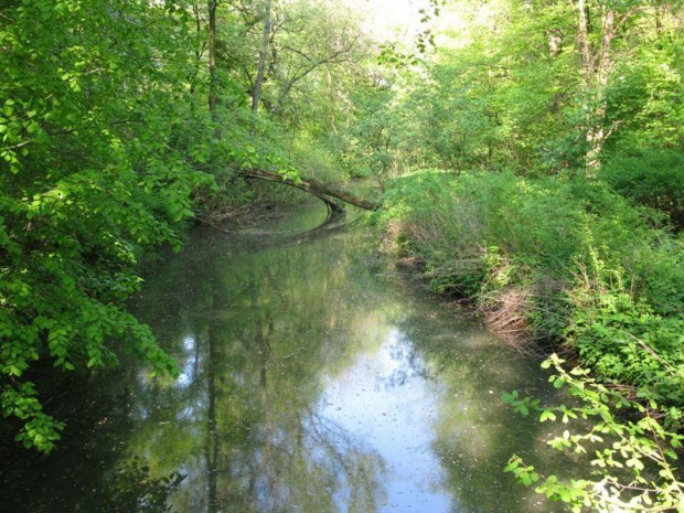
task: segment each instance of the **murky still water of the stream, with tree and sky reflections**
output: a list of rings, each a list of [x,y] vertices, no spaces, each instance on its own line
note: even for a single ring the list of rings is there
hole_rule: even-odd
[[[323,216],[169,256],[136,309],[181,375],[75,385],[62,449],[6,464],[8,511],[551,511],[502,472],[555,457],[500,400],[547,394],[538,363],[384,268],[365,229],[288,235]]]

